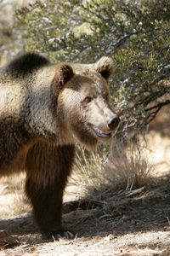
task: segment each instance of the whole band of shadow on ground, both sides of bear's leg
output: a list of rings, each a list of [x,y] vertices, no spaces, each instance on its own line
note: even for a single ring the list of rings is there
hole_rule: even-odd
[[[139,231],[170,229],[169,177],[155,189],[132,198],[109,201],[101,206],[81,207],[63,215],[64,225],[78,237],[121,236]],[[21,241],[41,243],[41,236],[32,224],[30,215],[0,220],[0,230],[19,236]],[[33,236],[31,236],[31,234]]]

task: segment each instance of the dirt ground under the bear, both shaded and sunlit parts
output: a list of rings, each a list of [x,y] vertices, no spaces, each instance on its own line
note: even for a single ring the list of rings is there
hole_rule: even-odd
[[[6,230],[18,242],[2,248],[0,255],[170,255],[168,182],[140,195],[121,200],[118,196],[99,207],[79,207],[65,213],[65,226],[77,234],[73,240],[42,241],[28,213],[1,218],[0,230]],[[76,192],[75,185],[70,184],[66,193],[75,199]],[[8,194],[5,196],[8,201]]]

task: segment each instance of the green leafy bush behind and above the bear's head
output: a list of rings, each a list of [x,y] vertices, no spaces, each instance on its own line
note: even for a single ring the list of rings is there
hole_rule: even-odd
[[[115,60],[112,105],[143,128],[170,92],[169,0],[37,1],[16,13],[25,49],[56,61]]]

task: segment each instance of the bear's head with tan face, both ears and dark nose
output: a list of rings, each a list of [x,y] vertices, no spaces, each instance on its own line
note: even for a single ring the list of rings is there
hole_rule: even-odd
[[[102,57],[94,64],[63,63],[56,67],[59,125],[74,142],[88,148],[94,148],[99,140],[109,140],[120,121],[110,106],[112,66],[111,58]]]

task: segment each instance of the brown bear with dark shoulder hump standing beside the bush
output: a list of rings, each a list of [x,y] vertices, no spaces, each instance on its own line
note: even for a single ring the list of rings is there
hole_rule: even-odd
[[[77,143],[108,142],[120,122],[111,110],[109,57],[53,64],[26,53],[0,72],[0,177],[26,172],[26,196],[42,237],[71,237],[61,224]]]

